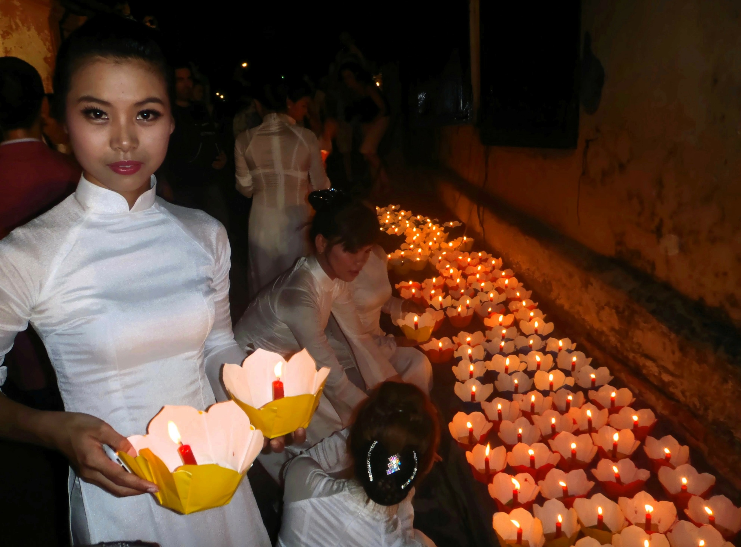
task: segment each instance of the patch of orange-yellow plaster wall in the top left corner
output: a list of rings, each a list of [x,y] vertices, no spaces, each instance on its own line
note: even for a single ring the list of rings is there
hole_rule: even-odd
[[[0,56],[13,56],[39,70],[47,92],[54,70],[52,0],[0,0]]]

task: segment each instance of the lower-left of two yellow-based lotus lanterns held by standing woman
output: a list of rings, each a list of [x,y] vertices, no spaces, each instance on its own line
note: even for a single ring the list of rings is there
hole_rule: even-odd
[[[206,412],[165,405],[147,425],[147,434],[129,441],[138,455],[119,452],[119,457],[138,477],[159,487],[153,495],[160,505],[182,514],[229,503],[262,450],[262,433],[233,401],[211,405]],[[181,441],[190,445],[198,465],[183,465]]]

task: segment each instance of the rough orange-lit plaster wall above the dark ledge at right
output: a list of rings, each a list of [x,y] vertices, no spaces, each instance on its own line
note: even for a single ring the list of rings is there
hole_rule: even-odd
[[[741,4],[584,0],[605,68],[577,150],[492,147],[486,190],[741,326]],[[476,185],[485,148],[445,127],[441,161]],[[578,209],[577,209],[578,205]]]

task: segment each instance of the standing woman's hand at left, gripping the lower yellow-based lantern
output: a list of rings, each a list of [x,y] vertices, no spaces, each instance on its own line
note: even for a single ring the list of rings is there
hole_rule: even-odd
[[[47,422],[53,445],[64,454],[78,477],[86,483],[98,485],[114,496],[137,496],[155,493],[157,485],[124,471],[103,451],[108,445],[117,452],[136,456],[131,443],[110,425],[90,414],[78,412],[49,412]]]

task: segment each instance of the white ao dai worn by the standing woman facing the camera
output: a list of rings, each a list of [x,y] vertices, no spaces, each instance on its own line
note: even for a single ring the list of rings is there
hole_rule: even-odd
[[[0,241],[0,364],[28,323],[47,348],[66,411],[128,437],[163,405],[215,402],[224,362],[245,355],[229,316],[229,242],[200,210],[152,188],[133,208],[84,177],[76,193]],[[223,397],[223,394],[221,394]],[[150,494],[115,497],[70,471],[76,544],[270,546],[250,483],[231,503],[189,515]]]

